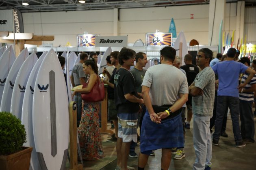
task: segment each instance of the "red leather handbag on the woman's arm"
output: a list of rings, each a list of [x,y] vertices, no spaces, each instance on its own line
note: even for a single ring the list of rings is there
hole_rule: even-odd
[[[84,83],[82,85],[82,88],[87,87],[88,83]],[[99,76],[98,76],[98,81],[97,83],[94,84],[93,88],[91,89],[91,92],[82,93],[81,97],[82,97],[82,100],[84,100],[85,102],[100,102],[104,100],[104,97],[105,97],[104,83],[103,81],[100,80]]]

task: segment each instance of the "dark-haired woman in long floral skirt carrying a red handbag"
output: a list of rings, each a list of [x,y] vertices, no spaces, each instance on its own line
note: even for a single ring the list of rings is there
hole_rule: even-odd
[[[99,81],[98,67],[94,59],[86,60],[82,66],[85,74],[90,75],[89,83],[86,88],[76,89],[72,96],[76,93],[89,93]],[[99,102],[82,100],[82,119],[78,127],[78,138],[84,160],[92,161],[104,157],[100,138],[99,112]]]

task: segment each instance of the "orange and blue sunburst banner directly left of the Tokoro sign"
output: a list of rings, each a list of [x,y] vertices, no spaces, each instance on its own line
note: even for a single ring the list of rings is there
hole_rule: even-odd
[[[78,47],[93,47],[95,46],[95,37],[99,35],[94,34],[81,34],[77,35],[77,44]]]

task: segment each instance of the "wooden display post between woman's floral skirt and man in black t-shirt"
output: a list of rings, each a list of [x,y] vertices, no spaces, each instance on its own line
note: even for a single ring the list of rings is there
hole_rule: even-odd
[[[113,134],[113,130],[107,129],[108,123],[108,91],[107,86],[105,86],[105,97],[101,102],[101,133],[110,133]]]

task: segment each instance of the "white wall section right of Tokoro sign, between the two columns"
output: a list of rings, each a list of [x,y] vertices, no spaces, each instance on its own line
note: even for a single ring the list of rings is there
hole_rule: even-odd
[[[202,44],[208,41],[209,5],[169,6],[157,8],[134,8],[120,10],[121,35],[127,35],[130,42],[138,38],[145,41],[147,32],[168,32],[171,18],[174,18],[177,36],[183,31],[186,40],[197,39]],[[190,19],[194,14],[194,19]]]

